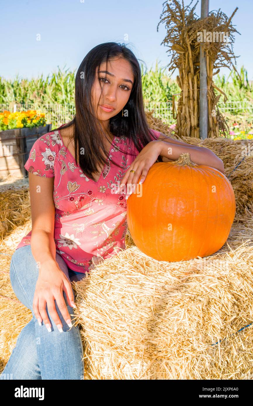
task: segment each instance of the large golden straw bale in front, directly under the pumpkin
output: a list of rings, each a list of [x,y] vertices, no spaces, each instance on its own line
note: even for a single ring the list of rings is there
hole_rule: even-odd
[[[252,228],[234,223],[217,253],[175,263],[130,246],[73,283],[87,378],[242,379],[252,372],[252,328],[246,342],[236,335],[253,322],[252,237]]]

